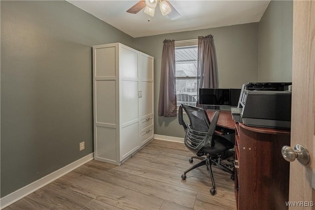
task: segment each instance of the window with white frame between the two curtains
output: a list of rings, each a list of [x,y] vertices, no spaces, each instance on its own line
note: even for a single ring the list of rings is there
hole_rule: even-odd
[[[175,80],[177,106],[197,105],[198,40],[175,42]]]

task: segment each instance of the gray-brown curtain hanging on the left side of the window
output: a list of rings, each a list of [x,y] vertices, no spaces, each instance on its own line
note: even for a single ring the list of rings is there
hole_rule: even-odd
[[[175,40],[163,41],[158,116],[176,117]]]

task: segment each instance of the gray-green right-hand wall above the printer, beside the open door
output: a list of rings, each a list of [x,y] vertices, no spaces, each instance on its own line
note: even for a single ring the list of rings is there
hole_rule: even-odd
[[[259,22],[260,82],[292,82],[293,1],[272,0]]]

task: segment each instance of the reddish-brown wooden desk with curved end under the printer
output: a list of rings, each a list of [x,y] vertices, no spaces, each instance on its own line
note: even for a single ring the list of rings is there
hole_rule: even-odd
[[[214,113],[207,111],[210,121]],[[290,145],[290,131],[235,123],[230,111],[220,111],[215,132],[226,138],[225,128],[235,139],[237,210],[287,210],[290,166],[281,148]]]

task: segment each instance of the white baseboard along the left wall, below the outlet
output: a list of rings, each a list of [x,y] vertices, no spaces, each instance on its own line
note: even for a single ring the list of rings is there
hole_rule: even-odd
[[[62,177],[63,175],[69,173],[70,171],[78,168],[79,166],[89,162],[94,158],[94,153],[88,154],[81,159],[70,163],[69,165],[64,166],[63,168],[39,179],[36,180],[8,195],[0,199],[0,209],[4,209],[5,207],[17,202],[18,200],[24,198],[25,196],[31,194],[32,192],[38,190],[39,188],[49,184],[50,182],[57,180],[58,178]]]

